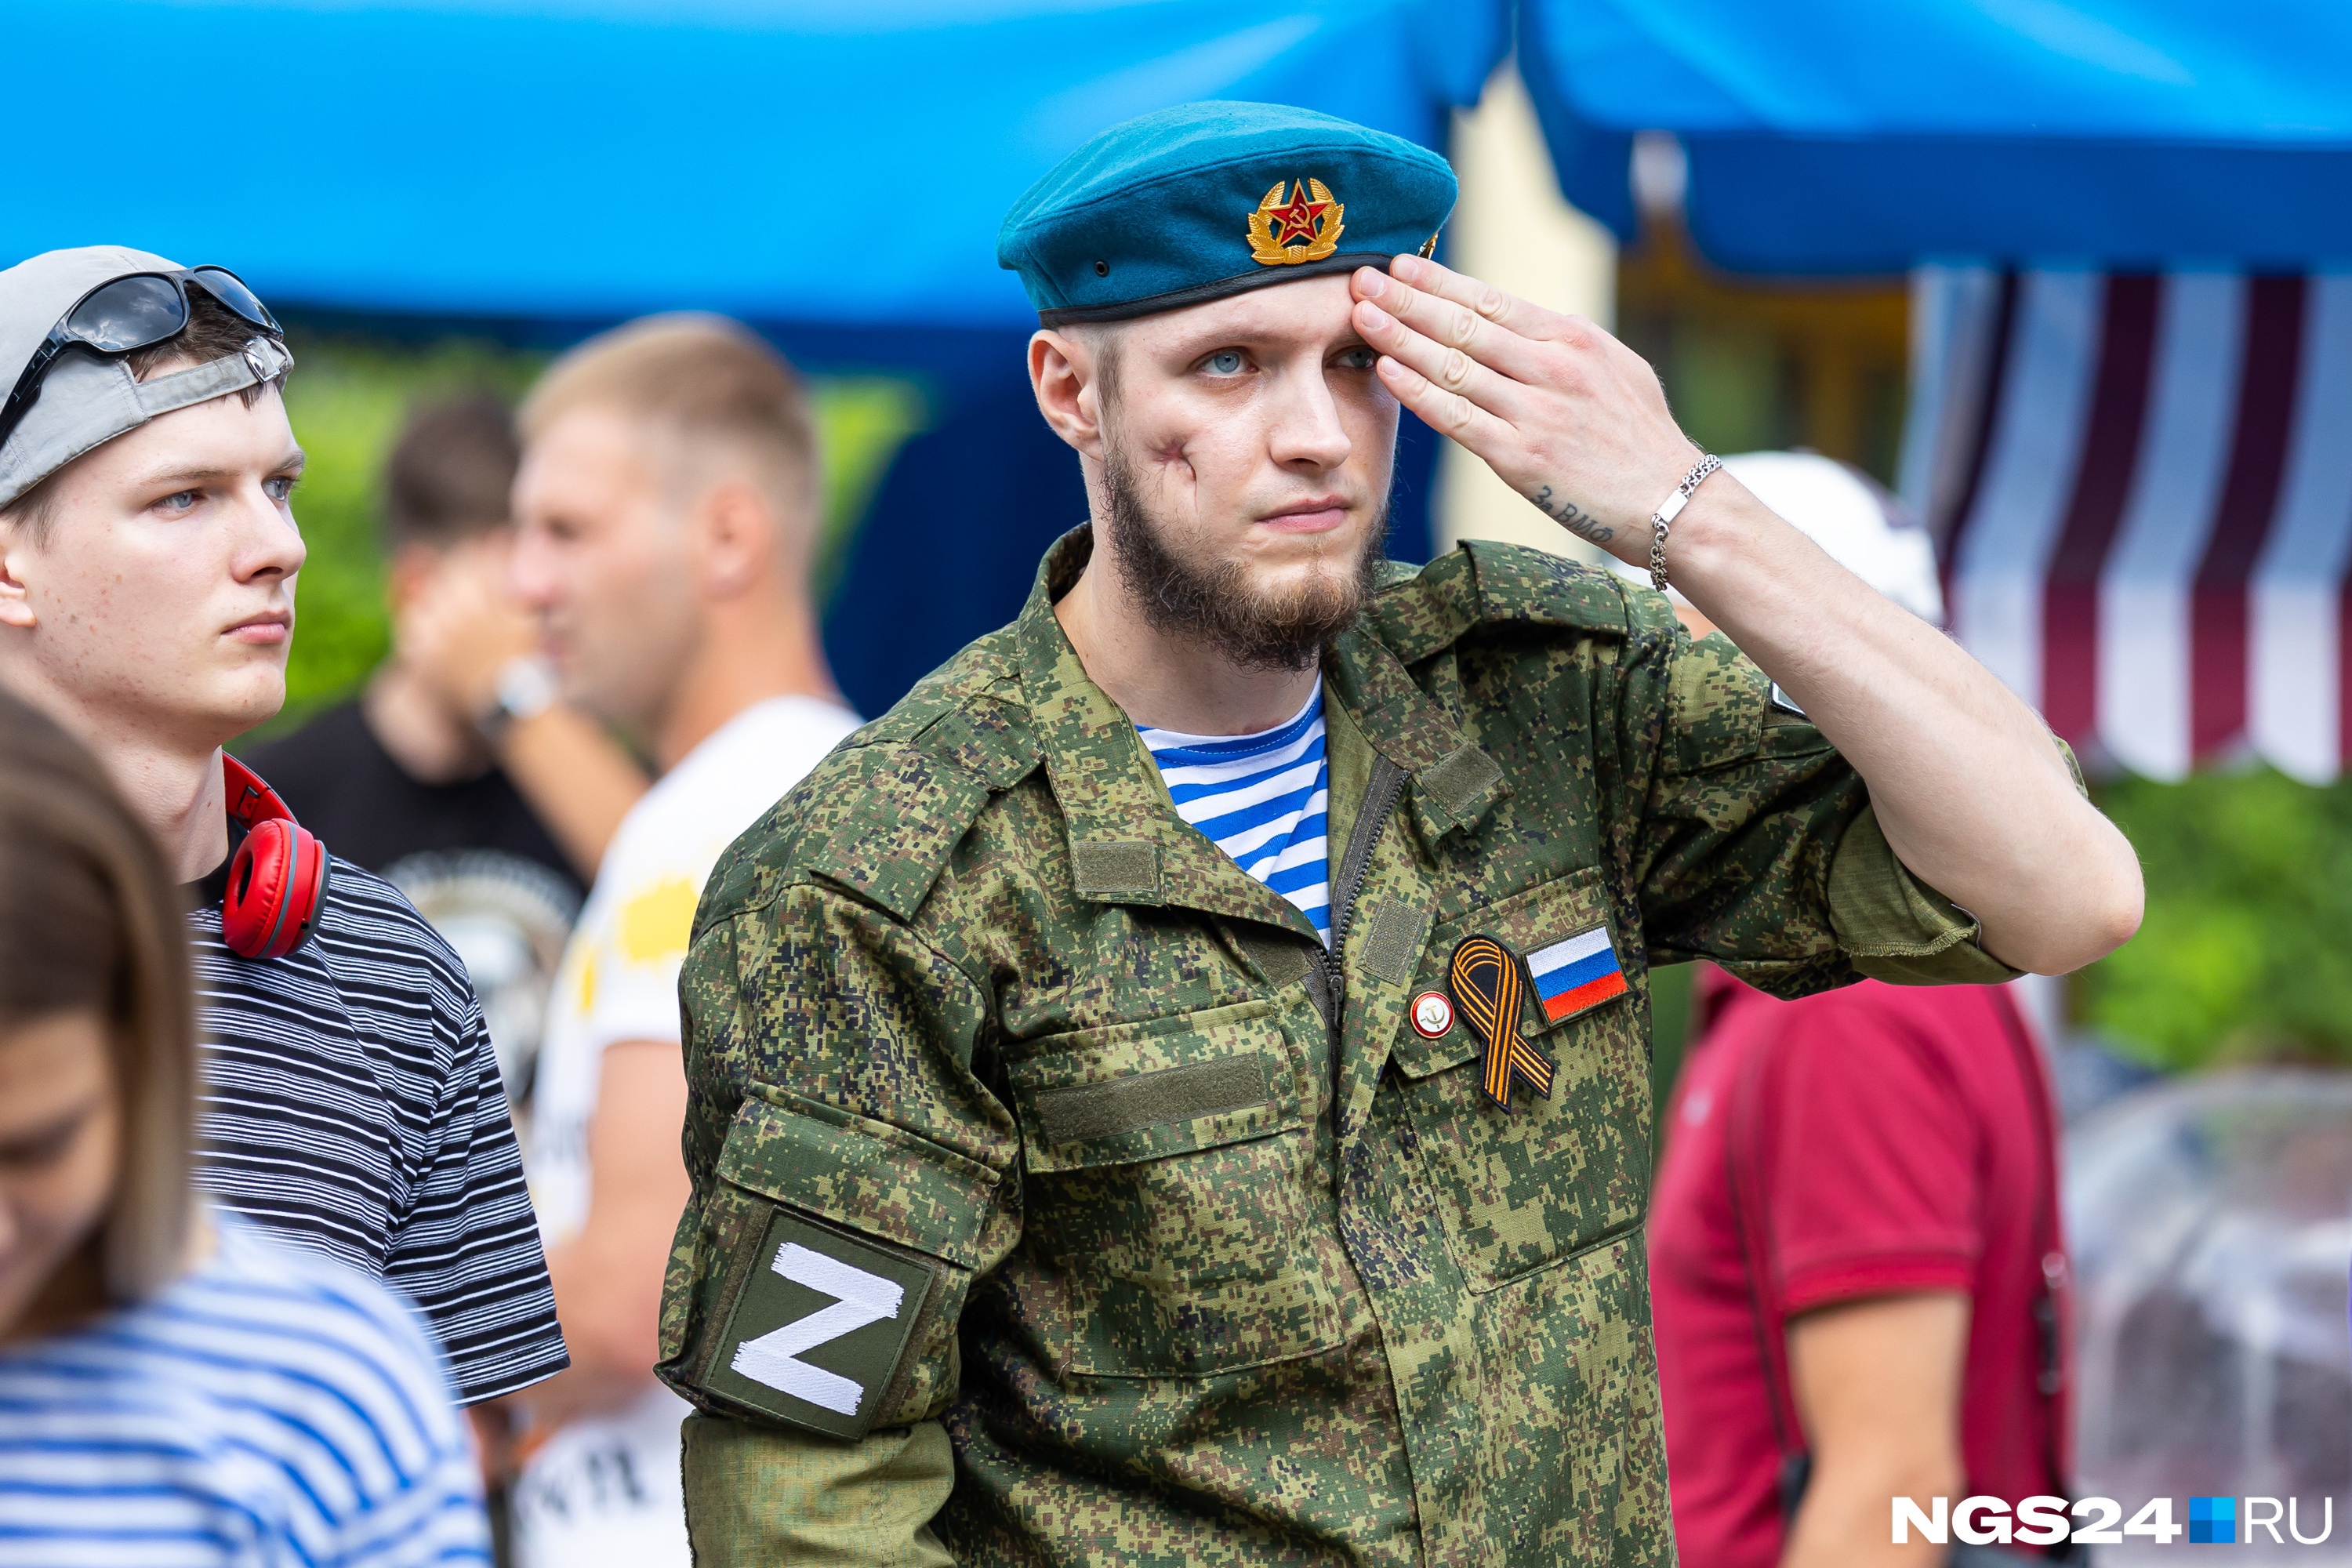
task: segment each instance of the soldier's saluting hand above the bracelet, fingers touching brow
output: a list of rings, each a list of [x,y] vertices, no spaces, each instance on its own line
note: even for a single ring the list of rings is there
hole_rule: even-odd
[[[1357,268],[1381,381],[1578,538],[1649,564],[1649,512],[1698,461],[1642,355],[1421,256]]]

